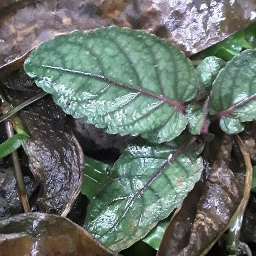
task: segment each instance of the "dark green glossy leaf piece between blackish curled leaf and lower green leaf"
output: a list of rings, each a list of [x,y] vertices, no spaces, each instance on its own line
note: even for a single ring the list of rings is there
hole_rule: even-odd
[[[111,166],[84,156],[84,183],[81,192],[90,200],[111,180]],[[113,178],[113,177],[112,177]]]

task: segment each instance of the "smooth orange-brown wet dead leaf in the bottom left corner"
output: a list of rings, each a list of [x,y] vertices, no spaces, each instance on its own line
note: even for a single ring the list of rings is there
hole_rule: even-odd
[[[117,256],[67,218],[24,213],[0,220],[1,256]]]

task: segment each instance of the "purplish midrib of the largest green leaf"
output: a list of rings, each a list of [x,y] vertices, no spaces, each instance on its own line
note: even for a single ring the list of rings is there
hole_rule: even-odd
[[[150,97],[155,98],[155,99],[159,99],[160,101],[163,101],[163,102],[167,103],[168,105],[171,105],[171,106],[175,107],[177,109],[177,111],[179,111],[181,113],[185,113],[185,110],[186,110],[186,106],[183,105],[182,103],[178,102],[178,101],[169,99],[169,98],[167,98],[163,95],[155,94],[155,93],[153,93],[151,91],[148,91],[148,90],[145,90],[141,87],[133,87],[129,84],[125,84],[125,83],[121,83],[121,82],[118,82],[118,81],[114,81],[112,79],[108,79],[107,77],[102,76],[102,75],[94,75],[94,74],[89,73],[89,72],[83,72],[83,71],[78,71],[78,70],[70,70],[70,69],[67,69],[67,68],[54,67],[54,66],[49,66],[49,65],[41,65],[39,67],[49,68],[49,69],[53,69],[53,70],[60,70],[60,71],[63,71],[63,72],[77,74],[77,75],[81,75],[81,76],[92,77],[92,78],[98,79],[100,81],[108,82],[112,85],[116,85],[116,86],[119,86],[119,87],[124,87],[124,88],[127,88],[127,89],[131,90],[131,91],[141,93],[141,94],[150,96]]]

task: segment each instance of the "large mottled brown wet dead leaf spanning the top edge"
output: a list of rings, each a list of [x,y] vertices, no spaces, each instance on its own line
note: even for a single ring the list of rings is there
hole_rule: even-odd
[[[15,60],[22,62],[40,42],[60,33],[113,24],[145,29],[191,55],[247,27],[255,9],[254,0],[5,0],[0,4],[0,67],[17,65]]]

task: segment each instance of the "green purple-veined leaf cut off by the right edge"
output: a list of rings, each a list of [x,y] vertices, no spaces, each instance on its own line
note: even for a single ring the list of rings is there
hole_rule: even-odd
[[[238,133],[241,122],[256,118],[256,50],[236,55],[218,73],[212,84],[209,113],[220,118],[221,129]]]

